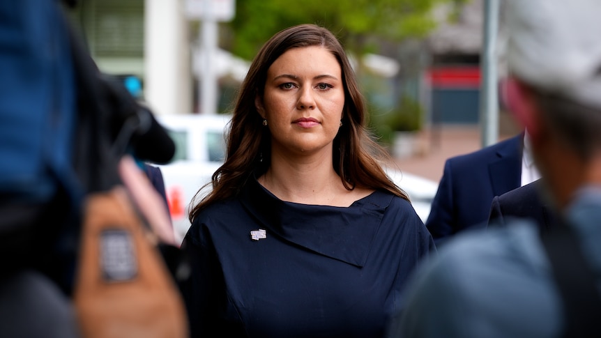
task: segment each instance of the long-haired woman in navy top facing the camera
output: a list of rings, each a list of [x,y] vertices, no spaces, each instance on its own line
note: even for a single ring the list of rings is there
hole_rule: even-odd
[[[275,34],[238,94],[227,158],[190,213],[192,336],[379,337],[434,247],[374,154],[342,46]]]

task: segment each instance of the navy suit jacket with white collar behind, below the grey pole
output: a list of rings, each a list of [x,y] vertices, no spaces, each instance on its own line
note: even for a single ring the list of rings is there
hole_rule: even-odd
[[[437,245],[459,231],[485,228],[492,199],[521,185],[523,139],[521,133],[446,160],[425,223]]]

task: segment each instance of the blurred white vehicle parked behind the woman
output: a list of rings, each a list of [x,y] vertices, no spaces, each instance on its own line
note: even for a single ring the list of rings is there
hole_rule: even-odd
[[[190,227],[190,202],[201,187],[211,182],[211,176],[225,158],[224,128],[231,116],[185,114],[158,115],[156,118],[176,144],[172,162],[158,167],[165,180],[176,239],[181,241]],[[413,208],[425,222],[438,184],[427,178],[401,172],[395,167],[386,167],[386,172],[409,194]]]

